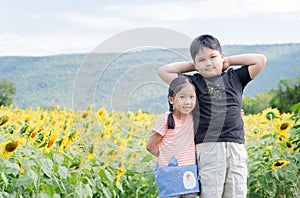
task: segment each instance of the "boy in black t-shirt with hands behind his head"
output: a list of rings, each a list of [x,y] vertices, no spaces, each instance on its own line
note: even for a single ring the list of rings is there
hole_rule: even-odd
[[[180,73],[199,72],[186,76],[196,87],[200,106],[194,111],[194,123],[201,197],[246,197],[248,156],[241,117],[242,93],[262,71],[266,57],[225,57],[219,41],[211,35],[195,38],[190,53],[193,63],[171,63],[160,67],[158,74],[169,84]],[[234,65],[242,67],[228,69]]]

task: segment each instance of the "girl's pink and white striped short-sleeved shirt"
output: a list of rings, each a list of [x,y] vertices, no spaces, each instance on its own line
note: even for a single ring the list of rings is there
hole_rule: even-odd
[[[174,117],[175,129],[168,129],[167,119],[169,112],[158,117],[152,130],[163,136],[159,143],[158,163],[167,166],[174,156],[178,166],[195,164],[194,122],[192,114],[185,120]]]

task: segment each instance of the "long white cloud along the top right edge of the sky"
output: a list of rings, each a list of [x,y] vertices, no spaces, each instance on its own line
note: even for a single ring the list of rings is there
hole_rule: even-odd
[[[163,2],[154,4],[118,4],[106,7],[121,16],[159,21],[235,18],[262,14],[272,15],[300,11],[297,0],[207,0],[195,2]]]

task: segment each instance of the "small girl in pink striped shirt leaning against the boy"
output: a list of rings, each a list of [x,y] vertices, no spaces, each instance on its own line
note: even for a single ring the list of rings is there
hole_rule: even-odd
[[[169,87],[170,111],[154,124],[146,149],[158,157],[155,179],[161,197],[195,197],[199,192],[192,110],[195,87],[185,76]]]

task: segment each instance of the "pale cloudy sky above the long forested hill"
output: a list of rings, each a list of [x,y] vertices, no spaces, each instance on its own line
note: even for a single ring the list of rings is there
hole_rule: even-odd
[[[299,0],[0,0],[0,56],[89,53],[144,27],[222,45],[300,43]]]

